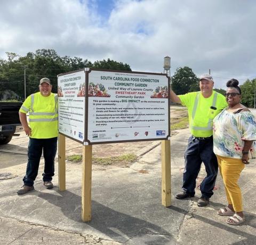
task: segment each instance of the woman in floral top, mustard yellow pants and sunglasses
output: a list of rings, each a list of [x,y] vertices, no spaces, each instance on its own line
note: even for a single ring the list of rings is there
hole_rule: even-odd
[[[240,103],[238,83],[236,79],[227,82],[225,95],[228,107],[213,120],[213,151],[218,159],[228,200],[228,206],[218,210],[217,214],[230,216],[226,220],[230,225],[245,221],[238,179],[244,165],[249,164],[256,140],[256,122],[251,111]]]

